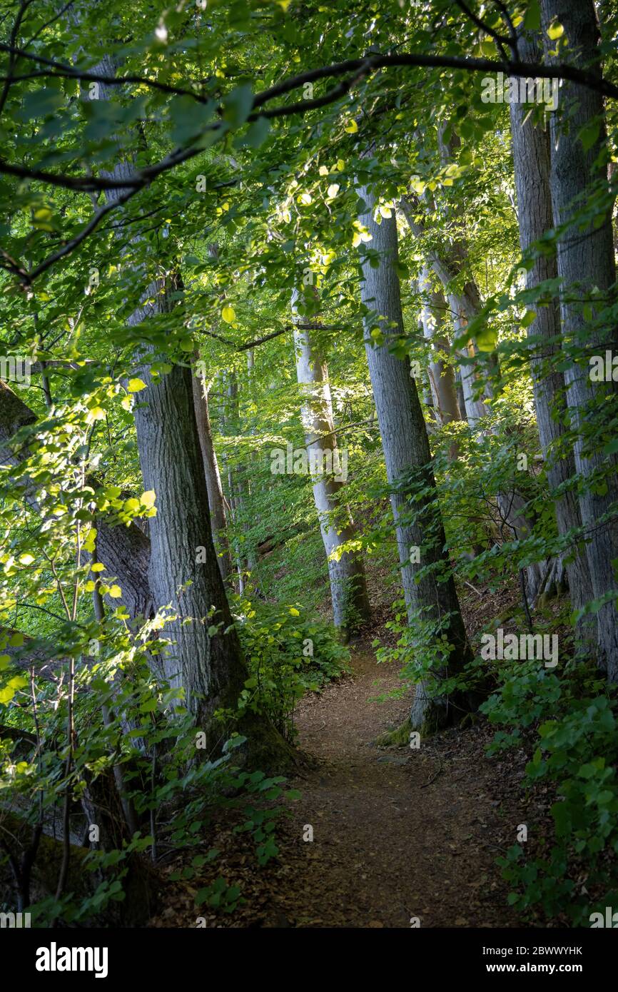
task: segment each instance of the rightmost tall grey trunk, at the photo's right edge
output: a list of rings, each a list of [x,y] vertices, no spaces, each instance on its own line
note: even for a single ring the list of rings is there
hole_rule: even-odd
[[[599,33],[592,0],[578,0],[576,4],[570,0],[543,0],[542,12],[544,32],[554,19],[564,28],[557,58],[567,58],[600,77]],[[568,42],[567,48],[562,47],[562,40]],[[555,48],[555,42],[548,43],[546,55],[549,59],[556,58],[550,55],[550,50]],[[596,134],[587,148],[578,137],[582,129],[587,129],[584,134],[592,137]],[[618,559],[618,522],[611,510],[618,500],[618,458],[615,454],[603,454],[598,439],[590,440],[590,429],[586,426],[586,420],[595,408],[598,410],[604,405],[610,410],[618,391],[618,383],[611,379],[592,382],[589,376],[591,354],[604,357],[606,349],[613,353],[618,350],[615,317],[608,318],[605,327],[593,326],[591,329],[589,326],[598,320],[600,310],[615,299],[609,198],[605,217],[597,215],[594,224],[588,224],[582,230],[581,220],[574,220],[591,184],[595,180],[599,184],[607,182],[607,136],[600,93],[563,79],[558,109],[551,117],[551,137],[552,203],[554,225],[559,228],[556,250],[562,337],[565,350],[579,347],[586,352],[583,357],[575,355],[564,372],[566,403],[570,426],[576,432],[575,468],[584,483],[579,507],[587,529],[586,556],[592,592],[596,599],[608,597],[596,614],[597,662],[607,672],[610,682],[618,682],[615,595],[618,582],[614,574]],[[596,416],[598,418],[598,413]]]

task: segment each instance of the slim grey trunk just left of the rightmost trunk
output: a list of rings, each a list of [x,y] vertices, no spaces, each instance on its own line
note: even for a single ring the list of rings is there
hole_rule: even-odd
[[[541,46],[534,36],[524,32],[519,38],[520,57],[524,62],[540,62]],[[517,190],[517,214],[520,231],[520,245],[527,252],[531,245],[553,227],[552,193],[550,188],[550,136],[548,131],[537,124],[530,107],[511,103],[511,136]],[[533,265],[528,269],[526,286],[538,287],[547,280],[557,277],[556,256],[545,251],[537,251]],[[545,458],[548,480],[553,492],[556,507],[556,524],[560,536],[581,527],[581,514],[577,496],[573,490],[560,489],[575,475],[575,462],[572,450],[562,454],[564,427],[564,376],[558,370],[560,360],[560,318],[556,301],[536,310],[534,321],[528,326],[528,336],[532,347],[532,377],[535,396],[535,409],[539,438]],[[572,560],[570,550],[564,564],[570,592],[570,600],[575,609],[580,609],[592,598],[590,570],[585,549],[575,545]],[[556,564],[561,563],[556,559]],[[559,583],[548,576],[542,595],[559,591]],[[581,634],[584,631],[581,630]]]

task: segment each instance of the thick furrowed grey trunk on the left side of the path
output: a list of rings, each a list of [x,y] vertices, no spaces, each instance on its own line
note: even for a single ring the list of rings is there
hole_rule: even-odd
[[[151,311],[169,311],[176,288],[161,281],[149,287],[147,298],[154,304],[134,311],[129,324],[147,319]],[[138,452],[144,487],[157,494],[157,514],[150,521],[150,588],[157,608],[170,605],[177,616],[164,630],[176,642],[165,660],[166,675],[185,688],[189,708],[207,721],[214,709],[235,704],[247,674],[235,629],[223,633],[231,614],[212,543],[192,376],[175,365],[153,379],[147,363],[139,375],[147,388],[134,410]],[[209,637],[212,625],[221,626]]]

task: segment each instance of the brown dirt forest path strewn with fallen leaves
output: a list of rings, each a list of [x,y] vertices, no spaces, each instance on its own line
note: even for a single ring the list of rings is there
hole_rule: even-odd
[[[500,766],[484,757],[486,737],[472,728],[419,750],[376,747],[409,703],[372,697],[400,684],[394,667],[357,646],[350,677],[300,701],[299,746],[317,764],[292,783],[302,798],[254,926],[517,925],[495,865],[516,823],[498,810]]]

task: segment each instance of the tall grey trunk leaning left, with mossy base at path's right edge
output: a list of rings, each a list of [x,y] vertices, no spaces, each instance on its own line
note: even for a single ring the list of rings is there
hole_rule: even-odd
[[[455,722],[466,711],[460,694],[441,693],[440,682],[460,672],[471,660],[472,652],[444,551],[430,443],[410,361],[407,357],[397,357],[391,350],[404,334],[397,275],[397,221],[393,214],[376,223],[373,193],[362,188],[359,196],[366,204],[366,212],[359,221],[371,234],[370,249],[379,252],[379,265],[375,269],[366,255],[362,260],[361,300],[370,311],[385,318],[380,321],[384,343],[374,346],[369,335],[369,316],[365,350],[391,487],[404,596],[416,642],[415,661],[422,666],[423,659],[419,656],[424,642],[430,652],[437,648],[439,656],[442,635],[451,649],[450,653],[442,653],[437,665],[433,661],[431,671],[420,667],[423,675],[416,687],[411,726],[428,732]],[[428,566],[431,570],[423,573]],[[419,636],[416,630],[427,622],[435,631],[429,645],[427,635]]]

